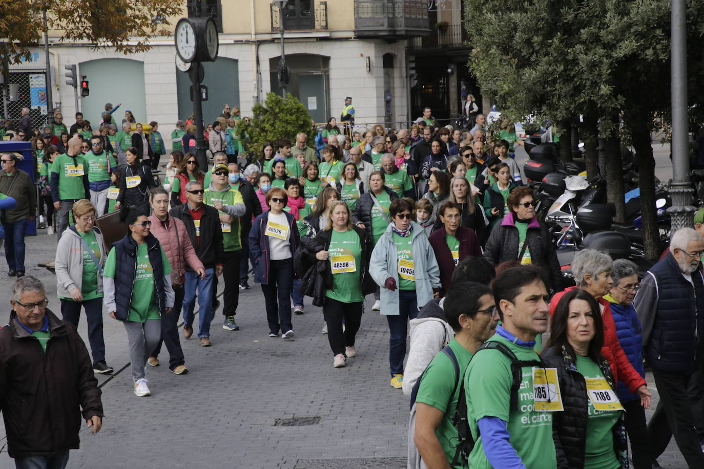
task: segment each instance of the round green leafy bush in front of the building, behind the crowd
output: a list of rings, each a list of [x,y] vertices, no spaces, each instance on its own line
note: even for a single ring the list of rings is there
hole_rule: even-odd
[[[285,137],[293,141],[301,132],[313,141],[313,119],[296,96],[290,93],[282,98],[276,93],[268,93],[264,103],[256,103],[252,108],[253,117],[249,122],[237,121],[237,134],[244,136],[248,153],[256,158],[262,154],[265,143],[275,143]],[[276,151],[276,148],[274,148]]]

